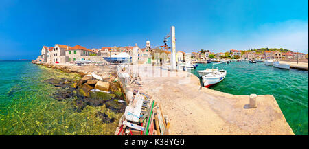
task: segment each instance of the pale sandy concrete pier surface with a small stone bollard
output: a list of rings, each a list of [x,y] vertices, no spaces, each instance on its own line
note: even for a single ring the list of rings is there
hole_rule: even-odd
[[[170,135],[294,135],[273,95],[259,95],[258,108],[249,108],[248,95],[200,87],[191,73],[141,66],[138,71],[142,90],[168,115]]]

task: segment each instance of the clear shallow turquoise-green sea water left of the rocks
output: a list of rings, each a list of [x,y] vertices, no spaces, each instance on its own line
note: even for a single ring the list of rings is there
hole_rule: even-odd
[[[58,101],[53,98],[61,87],[44,80],[62,78],[72,82],[76,73],[47,69],[30,61],[0,61],[0,135],[113,135],[117,120],[102,122],[98,113],[119,119],[102,106],[86,106],[76,111],[76,97]]]

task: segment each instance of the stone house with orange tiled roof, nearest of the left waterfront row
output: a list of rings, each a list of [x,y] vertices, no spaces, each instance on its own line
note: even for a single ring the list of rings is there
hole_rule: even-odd
[[[76,60],[86,60],[82,58],[82,56],[90,56],[91,54],[95,54],[91,49],[87,49],[86,47],[82,47],[80,45],[76,45],[74,47],[70,47],[65,51],[65,56],[67,56],[66,62],[74,62]]]

